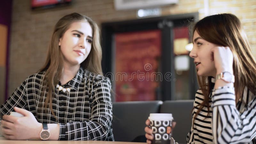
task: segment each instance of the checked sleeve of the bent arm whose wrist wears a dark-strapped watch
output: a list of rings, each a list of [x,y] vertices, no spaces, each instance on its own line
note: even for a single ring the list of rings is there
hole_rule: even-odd
[[[111,83],[108,78],[96,79],[92,85],[92,113],[89,121],[59,123],[59,140],[106,140],[108,138],[112,121]]]

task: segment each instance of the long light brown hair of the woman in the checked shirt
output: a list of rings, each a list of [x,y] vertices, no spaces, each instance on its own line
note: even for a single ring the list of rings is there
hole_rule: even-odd
[[[40,107],[42,108],[41,110],[45,109],[45,111],[47,108],[50,108],[51,113],[54,116],[55,114],[52,109],[52,98],[54,96],[54,87],[56,84],[58,84],[63,70],[64,60],[64,56],[60,51],[59,41],[70,25],[77,21],[88,22],[93,31],[91,51],[88,57],[80,64],[80,67],[88,69],[89,71],[97,74],[102,74],[102,51],[100,46],[100,31],[97,24],[91,18],[78,13],[71,13],[62,17],[54,27],[45,64],[39,70],[39,72],[45,71],[43,81],[44,87],[42,87],[44,93],[42,94],[43,96],[41,96],[41,102],[44,104],[42,104]],[[44,95],[47,95],[45,100]]]

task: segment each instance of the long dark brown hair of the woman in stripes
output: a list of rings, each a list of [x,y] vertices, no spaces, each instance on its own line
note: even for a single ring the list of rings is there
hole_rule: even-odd
[[[206,41],[222,46],[228,46],[234,55],[233,71],[235,76],[236,102],[242,97],[245,86],[256,94],[256,62],[240,20],[233,14],[223,13],[211,15],[197,21],[192,32]],[[209,95],[214,86],[211,76],[198,76],[197,81],[203,92],[204,100],[194,116],[207,107],[209,111]],[[195,108],[195,107],[194,107]],[[209,114],[209,112],[208,112]]]

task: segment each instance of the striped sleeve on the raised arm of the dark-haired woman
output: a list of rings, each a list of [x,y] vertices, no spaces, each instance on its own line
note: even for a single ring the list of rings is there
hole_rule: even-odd
[[[234,88],[222,87],[213,92],[212,131],[214,143],[249,143],[256,135],[256,99],[245,111],[236,108]]]

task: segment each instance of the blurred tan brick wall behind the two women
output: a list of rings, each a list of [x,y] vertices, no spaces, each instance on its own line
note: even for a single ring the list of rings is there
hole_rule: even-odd
[[[71,12],[87,15],[99,25],[107,21],[136,19],[136,10],[116,11],[113,0],[73,0],[70,6],[40,11],[30,9],[30,0],[13,0],[9,95],[26,77],[41,68],[53,26]],[[162,7],[163,15],[190,12],[199,12],[199,18],[203,18],[204,0],[180,0],[179,4]],[[210,14],[223,12],[233,13],[240,18],[256,57],[256,1],[209,0]]]

